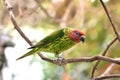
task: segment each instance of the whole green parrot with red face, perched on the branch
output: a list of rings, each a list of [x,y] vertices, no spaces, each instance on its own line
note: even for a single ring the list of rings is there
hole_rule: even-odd
[[[39,41],[36,45],[28,48],[32,50],[17,58],[17,60],[38,53],[40,51],[50,52],[55,54],[55,57],[59,57],[59,54],[61,52],[71,48],[81,41],[85,41],[85,34],[83,32],[71,28],[63,28],[51,33]]]

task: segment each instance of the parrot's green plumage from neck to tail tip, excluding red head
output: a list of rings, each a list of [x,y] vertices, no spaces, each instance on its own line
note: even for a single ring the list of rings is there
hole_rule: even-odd
[[[70,30],[71,29],[69,28],[64,28],[51,33],[50,35],[42,39],[40,42],[38,42],[35,46],[30,47],[29,49],[32,50],[19,57],[17,60],[37,53],[39,51],[51,52],[54,53],[56,57],[58,57],[58,55],[62,51],[67,50],[76,44],[68,37],[68,33],[70,32]]]

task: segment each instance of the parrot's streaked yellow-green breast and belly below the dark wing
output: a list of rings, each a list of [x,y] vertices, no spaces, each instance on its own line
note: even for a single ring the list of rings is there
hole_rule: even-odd
[[[41,48],[41,51],[60,54],[61,52],[71,48],[75,44],[76,43],[73,42],[68,36],[63,36],[61,38],[57,38],[56,40],[44,45]]]

